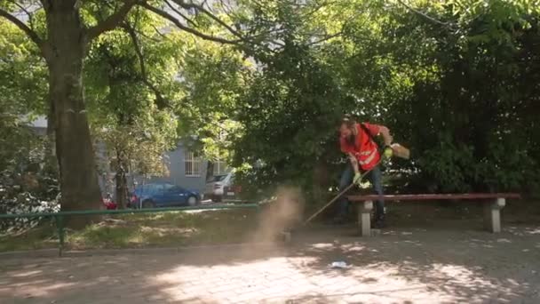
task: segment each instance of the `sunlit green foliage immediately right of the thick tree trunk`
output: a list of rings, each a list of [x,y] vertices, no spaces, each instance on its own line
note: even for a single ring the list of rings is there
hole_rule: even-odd
[[[117,174],[161,176],[167,173],[164,153],[178,138],[173,114],[178,44],[155,33],[152,22],[157,21],[143,12],[133,22],[140,55],[126,28],[91,45],[85,69],[91,129],[107,150],[102,171],[111,165]]]

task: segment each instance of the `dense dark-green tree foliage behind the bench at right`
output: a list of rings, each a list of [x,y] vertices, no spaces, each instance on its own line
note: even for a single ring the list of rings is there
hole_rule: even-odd
[[[401,164],[414,172],[409,185],[443,192],[535,187],[533,3],[397,1],[369,16],[377,40],[362,39],[363,25],[347,33],[360,52],[344,76],[353,92],[377,100],[391,130],[413,148],[413,162]]]

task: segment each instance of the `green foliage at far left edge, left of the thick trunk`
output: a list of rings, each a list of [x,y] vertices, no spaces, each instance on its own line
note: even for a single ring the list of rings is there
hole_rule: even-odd
[[[58,180],[44,165],[47,139],[30,126],[47,110],[46,76],[35,46],[0,20],[0,212],[51,210],[58,195]],[[35,224],[13,220],[2,228]]]

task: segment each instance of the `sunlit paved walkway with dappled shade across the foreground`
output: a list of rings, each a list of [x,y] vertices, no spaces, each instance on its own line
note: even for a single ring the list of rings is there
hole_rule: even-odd
[[[539,274],[540,228],[411,229],[288,248],[0,257],[0,303],[539,303]]]

